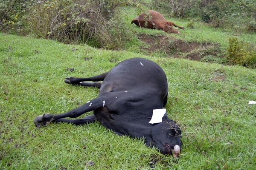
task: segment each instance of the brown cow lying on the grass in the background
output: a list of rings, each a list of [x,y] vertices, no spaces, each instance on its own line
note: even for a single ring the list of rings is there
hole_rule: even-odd
[[[137,16],[131,21],[131,24],[133,23],[139,27],[151,29],[157,28],[165,32],[175,34],[180,34],[180,31],[178,29],[173,28],[172,26],[184,29],[183,26],[177,26],[175,23],[166,20],[162,14],[153,10],[147,10],[146,12],[141,13],[139,16]]]

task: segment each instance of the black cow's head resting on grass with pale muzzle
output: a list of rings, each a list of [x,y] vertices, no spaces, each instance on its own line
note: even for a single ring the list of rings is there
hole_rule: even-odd
[[[177,157],[182,146],[180,136],[180,127],[176,122],[163,121],[152,126],[151,145],[157,147],[163,154],[173,154],[174,157]]]

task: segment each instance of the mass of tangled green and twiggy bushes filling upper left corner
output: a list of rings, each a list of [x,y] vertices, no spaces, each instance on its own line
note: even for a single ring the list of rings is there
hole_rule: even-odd
[[[122,49],[133,34],[119,7],[135,0],[0,0],[0,30]]]

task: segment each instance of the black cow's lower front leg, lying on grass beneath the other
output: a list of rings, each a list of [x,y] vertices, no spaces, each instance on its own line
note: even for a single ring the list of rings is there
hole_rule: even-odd
[[[61,118],[58,120],[55,120],[55,122],[67,122],[67,123],[72,123],[73,125],[82,125],[82,124],[89,124],[92,122],[95,122],[97,119],[94,116],[94,114],[85,116],[84,118],[81,119],[65,119],[65,118]]]

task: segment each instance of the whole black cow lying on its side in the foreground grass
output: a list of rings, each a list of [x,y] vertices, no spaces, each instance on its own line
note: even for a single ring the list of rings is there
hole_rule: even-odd
[[[93,82],[86,82],[93,81]],[[96,81],[103,81],[102,83]],[[180,127],[164,114],[160,123],[150,124],[153,109],[162,109],[167,102],[166,74],[156,63],[144,58],[131,58],[110,71],[94,77],[66,77],[68,84],[100,88],[99,96],[84,105],[62,114],[37,116],[37,127],[49,122],[68,122],[75,125],[96,120],[118,135],[145,138],[147,146],[157,147],[163,154],[180,153]],[[88,111],[92,115],[75,118]]]

